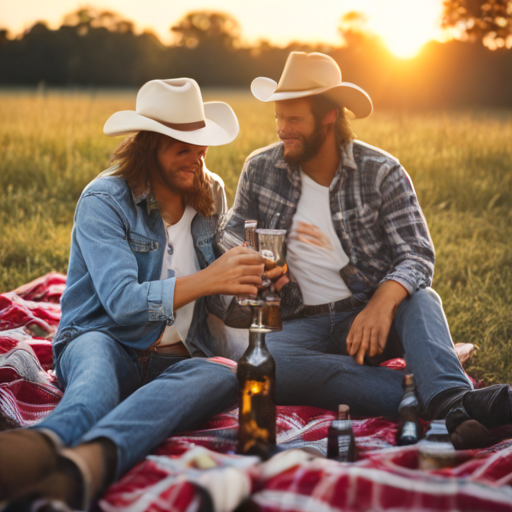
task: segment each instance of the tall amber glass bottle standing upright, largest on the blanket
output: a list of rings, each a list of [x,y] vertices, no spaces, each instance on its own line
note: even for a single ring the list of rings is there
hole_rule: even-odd
[[[271,451],[276,444],[276,364],[267,350],[264,330],[251,328],[249,347],[238,361],[237,377],[237,453]]]

